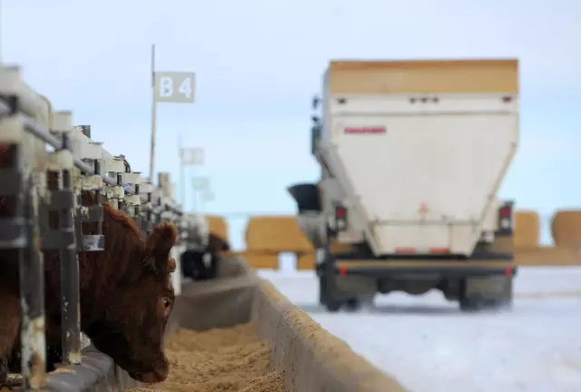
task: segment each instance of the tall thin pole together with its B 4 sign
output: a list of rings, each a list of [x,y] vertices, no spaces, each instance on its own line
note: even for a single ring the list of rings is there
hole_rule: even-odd
[[[157,103],[193,103],[194,80],[195,73],[155,72],[155,44],[152,44],[152,143],[149,161],[149,181],[152,183],[155,169]]]

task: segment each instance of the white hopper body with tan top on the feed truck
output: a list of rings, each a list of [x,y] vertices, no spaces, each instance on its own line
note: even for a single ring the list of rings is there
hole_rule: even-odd
[[[349,211],[338,240],[470,255],[494,238],[517,151],[517,62],[360,64],[331,63],[324,80],[316,156],[323,205]]]

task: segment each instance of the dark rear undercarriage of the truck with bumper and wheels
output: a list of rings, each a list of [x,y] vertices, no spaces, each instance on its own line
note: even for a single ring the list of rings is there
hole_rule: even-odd
[[[510,308],[517,267],[511,252],[479,251],[470,257],[402,256],[377,258],[363,244],[349,253],[327,245],[317,264],[320,304],[331,312],[359,309],[379,293],[423,294],[440,290],[462,311]],[[493,247],[492,247],[493,248]]]

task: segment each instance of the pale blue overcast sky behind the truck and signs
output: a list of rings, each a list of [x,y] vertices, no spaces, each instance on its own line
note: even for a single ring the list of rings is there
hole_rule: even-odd
[[[1,52],[145,175],[151,44],[158,71],[195,72],[196,103],[159,105],[156,169],[178,180],[180,133],[204,147],[188,175],[212,177],[203,208],[219,213],[295,211],[285,187],[319,176],[310,96],[330,58],[518,57],[521,139],[501,196],[548,216],[580,204],[580,21],[571,0],[3,0]]]

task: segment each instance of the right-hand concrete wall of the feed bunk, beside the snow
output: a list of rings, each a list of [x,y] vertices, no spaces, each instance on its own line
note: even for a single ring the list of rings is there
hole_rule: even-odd
[[[272,368],[285,372],[289,392],[404,392],[340,338],[320,327],[268,281],[252,304],[252,322],[274,345]]]

